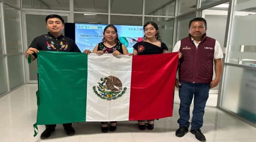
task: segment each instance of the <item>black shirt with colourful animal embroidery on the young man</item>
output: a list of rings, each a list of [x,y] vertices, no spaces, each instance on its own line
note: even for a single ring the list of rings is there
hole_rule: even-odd
[[[72,39],[62,34],[56,39],[50,32],[36,37],[28,48],[30,47],[39,51],[81,52]],[[34,53],[33,56],[37,58],[37,54]]]

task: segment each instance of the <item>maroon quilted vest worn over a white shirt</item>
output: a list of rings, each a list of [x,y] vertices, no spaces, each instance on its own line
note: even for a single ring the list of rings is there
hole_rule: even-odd
[[[180,81],[192,83],[210,83],[212,81],[215,41],[204,34],[196,49],[190,34],[181,40]]]

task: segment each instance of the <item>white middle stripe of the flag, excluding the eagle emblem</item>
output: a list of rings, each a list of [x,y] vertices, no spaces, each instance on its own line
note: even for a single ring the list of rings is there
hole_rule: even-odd
[[[124,121],[129,120],[130,89],[131,89],[132,57],[113,56],[112,54],[88,55],[87,104],[86,121]],[[103,100],[93,91],[100,78],[115,76],[122,82],[125,93],[116,100]],[[106,83],[104,84],[106,85]],[[109,90],[108,90],[109,91]],[[120,94],[120,93],[119,93]]]

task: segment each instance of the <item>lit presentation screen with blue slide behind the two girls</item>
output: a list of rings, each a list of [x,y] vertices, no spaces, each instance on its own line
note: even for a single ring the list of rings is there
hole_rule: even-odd
[[[104,28],[101,24],[65,23],[65,36],[73,39],[78,48],[83,52],[93,48],[103,39]],[[143,40],[143,26],[114,25],[117,28],[119,41],[132,53],[132,46]]]

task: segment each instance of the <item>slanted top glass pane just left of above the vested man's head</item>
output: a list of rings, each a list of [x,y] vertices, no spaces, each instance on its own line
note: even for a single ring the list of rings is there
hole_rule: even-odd
[[[179,15],[196,9],[196,0],[180,0]]]

